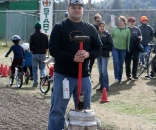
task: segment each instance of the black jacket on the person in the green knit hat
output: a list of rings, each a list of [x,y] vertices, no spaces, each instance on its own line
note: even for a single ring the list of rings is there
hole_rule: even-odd
[[[46,54],[47,49],[47,35],[41,33],[39,30],[35,30],[35,33],[30,36],[30,51],[33,52],[33,54]]]

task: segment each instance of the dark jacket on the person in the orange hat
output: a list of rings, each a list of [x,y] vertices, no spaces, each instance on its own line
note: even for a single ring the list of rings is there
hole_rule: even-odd
[[[154,36],[153,28],[150,25],[142,24],[139,25],[139,29],[141,30],[142,33],[141,44],[148,45],[148,43],[150,43],[150,41],[153,40],[153,36]]]

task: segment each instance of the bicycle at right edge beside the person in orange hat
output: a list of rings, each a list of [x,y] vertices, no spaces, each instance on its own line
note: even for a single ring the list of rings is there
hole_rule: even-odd
[[[154,78],[156,76],[156,54],[152,59],[150,59],[151,53],[156,53],[156,46],[154,44],[149,44],[150,45],[150,52],[148,53],[143,53],[140,57],[143,57],[144,59],[144,64],[142,64],[141,61],[139,61],[138,66],[140,67],[140,72],[138,74],[138,77],[144,73],[145,70],[147,70],[147,76],[146,78]],[[139,57],[139,59],[140,59]]]

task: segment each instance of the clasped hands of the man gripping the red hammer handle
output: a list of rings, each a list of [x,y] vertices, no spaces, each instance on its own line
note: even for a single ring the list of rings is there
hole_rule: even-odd
[[[85,50],[79,50],[75,56],[74,61],[75,62],[84,62],[84,59],[87,59],[89,57],[89,53]]]

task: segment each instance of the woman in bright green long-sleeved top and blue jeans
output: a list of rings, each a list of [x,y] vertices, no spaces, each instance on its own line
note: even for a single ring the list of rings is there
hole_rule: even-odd
[[[118,26],[112,30],[113,38],[113,63],[115,82],[122,82],[123,63],[125,61],[126,51],[129,52],[130,29],[126,26],[127,19],[124,16],[118,18]]]

